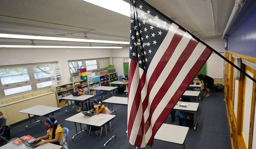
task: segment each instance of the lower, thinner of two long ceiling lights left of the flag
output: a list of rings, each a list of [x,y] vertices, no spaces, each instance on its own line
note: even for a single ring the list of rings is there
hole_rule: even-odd
[[[0,45],[0,48],[75,48],[75,49],[122,49],[123,47],[97,47],[97,46],[55,46],[55,45]]]

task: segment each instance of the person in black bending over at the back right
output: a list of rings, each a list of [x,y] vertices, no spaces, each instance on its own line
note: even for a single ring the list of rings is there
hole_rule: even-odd
[[[202,81],[203,80],[203,84],[205,85],[205,94],[203,94],[203,96],[208,97],[210,96],[210,89],[212,89],[213,85],[214,85],[214,79],[211,78],[210,76],[207,75],[202,75],[202,74],[198,74],[197,78]]]

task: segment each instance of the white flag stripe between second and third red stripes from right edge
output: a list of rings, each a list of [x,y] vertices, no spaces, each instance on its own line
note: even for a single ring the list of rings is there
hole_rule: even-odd
[[[172,69],[175,66],[177,60],[179,60],[179,57],[181,56],[181,54],[185,50],[185,48],[188,45],[188,42],[190,41],[191,38],[192,38],[192,36],[189,35],[187,32],[184,34],[184,36],[181,38],[181,41],[177,45],[174,53],[172,54],[170,60],[165,65],[165,68],[163,69],[164,71],[162,71],[162,73],[159,75],[159,78],[156,81],[157,83],[155,83],[154,86],[152,87],[152,90],[151,90],[151,92],[149,94],[149,97],[148,97],[148,105],[149,106],[146,108],[146,111],[144,112],[145,122],[148,119],[150,106],[152,104],[153,99],[155,98],[155,95],[157,94],[159,89],[162,87],[163,83],[165,82],[166,78],[168,77],[168,75],[172,71]]]

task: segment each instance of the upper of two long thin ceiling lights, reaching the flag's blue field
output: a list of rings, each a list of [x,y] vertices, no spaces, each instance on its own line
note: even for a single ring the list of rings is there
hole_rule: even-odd
[[[109,40],[92,40],[92,39],[80,39],[80,38],[63,38],[63,37],[31,36],[31,35],[15,35],[15,34],[0,34],[0,38],[54,40],[54,41],[67,41],[67,42],[90,42],[90,43],[105,43],[105,44],[129,44],[129,42],[119,42],[119,41],[109,41]]]

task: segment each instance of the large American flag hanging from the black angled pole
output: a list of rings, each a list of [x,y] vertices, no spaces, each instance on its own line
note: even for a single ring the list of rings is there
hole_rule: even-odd
[[[152,146],[212,50],[141,0],[131,0],[130,24],[128,140]]]

